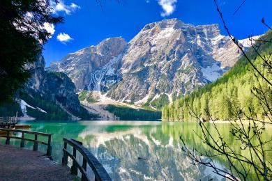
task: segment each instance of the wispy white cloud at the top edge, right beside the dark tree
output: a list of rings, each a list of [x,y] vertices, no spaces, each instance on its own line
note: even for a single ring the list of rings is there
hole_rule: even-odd
[[[54,0],[51,0],[50,4],[52,6],[53,13],[56,15],[58,15],[60,12],[66,13],[66,15],[70,15],[71,13],[74,13],[76,10],[80,9],[80,6],[77,4],[70,3],[70,5],[67,5],[62,0],[59,0],[58,3],[56,3]]]

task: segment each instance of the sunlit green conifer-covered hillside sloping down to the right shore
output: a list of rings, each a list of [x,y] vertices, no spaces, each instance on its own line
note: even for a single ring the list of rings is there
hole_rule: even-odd
[[[272,31],[266,33],[260,40],[271,41]],[[258,47],[257,43],[255,45]],[[272,45],[269,42],[262,43],[259,47],[259,53],[264,56],[271,55],[271,51]],[[260,58],[256,58],[256,53],[252,49],[247,54],[258,68],[262,68],[262,61]],[[272,80],[272,77],[269,78]],[[259,80],[270,99],[269,102],[272,103],[271,89],[264,85],[262,79]],[[251,88],[254,85],[258,85],[254,71],[248,61],[242,57],[231,70],[226,72],[217,81],[199,88],[190,95],[185,95],[172,104],[165,106],[163,108],[163,120],[194,120],[195,118],[190,115],[190,109],[193,109],[202,118],[207,118],[204,111],[206,108],[209,108],[213,118],[217,120],[229,120],[232,119],[234,103],[243,109],[245,113],[249,113],[249,109],[251,109],[257,115],[262,116],[264,111],[257,98],[251,93]]]

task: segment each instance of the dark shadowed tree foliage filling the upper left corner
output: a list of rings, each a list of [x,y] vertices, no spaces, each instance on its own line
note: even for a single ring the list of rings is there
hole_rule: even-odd
[[[0,104],[12,102],[31,72],[24,67],[36,61],[50,38],[44,24],[57,24],[49,0],[0,1]]]

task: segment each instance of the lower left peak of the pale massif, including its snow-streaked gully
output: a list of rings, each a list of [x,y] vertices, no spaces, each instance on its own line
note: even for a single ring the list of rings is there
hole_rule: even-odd
[[[107,38],[96,46],[68,54],[61,61],[52,63],[50,70],[68,74],[78,89],[97,90],[101,81],[105,81],[103,85],[106,88],[107,84],[121,79],[116,74],[115,57],[123,52],[126,45],[123,38]]]

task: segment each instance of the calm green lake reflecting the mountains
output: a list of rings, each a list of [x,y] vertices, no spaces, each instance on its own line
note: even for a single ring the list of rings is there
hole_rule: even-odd
[[[113,180],[222,180],[205,166],[192,166],[183,155],[180,136],[189,148],[208,149],[195,132],[198,123],[161,123],[147,121],[31,121],[31,129],[52,136],[52,157],[61,163],[63,137],[82,141],[103,164]],[[231,125],[218,124],[220,133],[239,149],[230,134]],[[195,132],[194,132],[195,131]],[[271,138],[271,132],[264,136]],[[1,139],[3,142],[3,139]],[[14,141],[14,144],[19,145]],[[31,148],[31,143],[27,144]],[[45,152],[45,147],[40,146]],[[139,159],[141,158],[141,159]],[[224,159],[217,159],[224,166]]]

